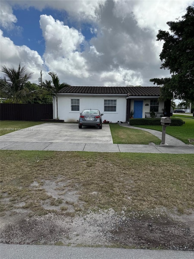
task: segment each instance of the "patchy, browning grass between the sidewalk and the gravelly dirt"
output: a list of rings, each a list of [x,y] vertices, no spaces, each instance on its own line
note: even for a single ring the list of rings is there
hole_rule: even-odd
[[[50,180],[59,186],[68,182],[68,190],[76,191],[83,202],[83,213],[121,211],[124,206],[128,211],[167,207],[184,212],[194,209],[193,168],[192,154],[2,150],[1,211],[11,212],[25,203],[23,208],[32,214],[48,213],[41,202],[53,201],[43,188]],[[35,181],[39,186],[32,185]],[[60,213],[67,212],[61,208]]]

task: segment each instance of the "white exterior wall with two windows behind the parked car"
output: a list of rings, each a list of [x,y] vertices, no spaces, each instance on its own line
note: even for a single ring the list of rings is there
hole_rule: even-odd
[[[79,99],[79,111],[71,111],[71,99]],[[104,111],[104,100],[117,100],[116,111],[115,112],[105,112]],[[60,120],[65,122],[76,122],[79,119],[80,112],[83,109],[97,109],[104,115],[102,120],[112,121],[115,123],[117,121],[126,121],[126,96],[79,96],[76,94],[72,95],[60,95],[58,94],[58,116]],[[55,105],[53,108],[54,118],[56,115],[56,98]]]

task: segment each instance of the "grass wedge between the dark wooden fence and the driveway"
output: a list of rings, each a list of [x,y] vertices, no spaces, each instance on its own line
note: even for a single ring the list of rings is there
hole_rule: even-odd
[[[0,121],[0,136],[17,131],[19,129],[24,129],[32,127],[35,125],[42,124],[44,122],[40,121]]]

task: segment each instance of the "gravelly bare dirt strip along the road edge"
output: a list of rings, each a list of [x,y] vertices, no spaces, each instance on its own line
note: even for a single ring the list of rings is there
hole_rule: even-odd
[[[9,216],[1,230],[1,242],[194,250],[194,212],[190,221],[183,218],[164,209],[143,213],[110,209],[73,217],[56,213]]]

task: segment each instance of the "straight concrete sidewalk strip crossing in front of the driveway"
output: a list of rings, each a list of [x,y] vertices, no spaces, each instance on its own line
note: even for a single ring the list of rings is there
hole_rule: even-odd
[[[194,145],[186,145],[186,144],[185,145],[127,145],[127,144],[98,144],[98,143],[1,141],[0,149],[194,154]]]

